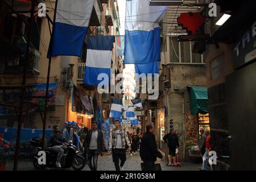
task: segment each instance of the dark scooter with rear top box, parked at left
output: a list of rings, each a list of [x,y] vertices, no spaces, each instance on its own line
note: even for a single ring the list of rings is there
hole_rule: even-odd
[[[33,165],[38,170],[43,170],[45,168],[57,168],[56,159],[57,153],[51,150],[51,147],[42,148],[42,143],[40,143],[39,138],[32,138],[30,140],[31,146],[35,147],[35,154],[33,156]],[[61,157],[60,164],[61,168],[73,168],[76,171],[80,171],[85,166],[85,159],[79,154],[77,147],[72,144],[71,141],[64,143],[67,146],[67,150],[64,151],[64,155]],[[39,158],[41,155],[38,153],[44,151],[46,154],[46,164],[39,164]],[[41,152],[40,152],[41,153]]]

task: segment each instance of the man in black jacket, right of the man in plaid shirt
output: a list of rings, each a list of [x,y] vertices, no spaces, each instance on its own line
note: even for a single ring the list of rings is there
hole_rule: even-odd
[[[139,155],[144,163],[144,171],[154,171],[156,158],[164,160],[163,155],[158,151],[155,140],[155,126],[153,124],[146,126],[146,133],[144,133],[141,141],[141,148]]]

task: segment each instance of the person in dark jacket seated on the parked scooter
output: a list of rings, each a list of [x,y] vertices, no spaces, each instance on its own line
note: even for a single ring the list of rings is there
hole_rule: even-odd
[[[63,139],[60,129],[58,126],[53,126],[53,131],[49,140],[49,147],[53,152],[56,152],[57,160],[56,160],[56,167],[61,168],[60,159],[64,154],[64,151],[67,150],[67,146],[64,146],[65,140]]]

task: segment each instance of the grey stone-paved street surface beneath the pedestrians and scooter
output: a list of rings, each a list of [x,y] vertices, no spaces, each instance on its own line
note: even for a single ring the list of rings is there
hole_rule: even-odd
[[[126,155],[127,160],[125,162],[125,166],[123,168],[125,171],[141,171],[141,158],[139,155]],[[160,162],[163,171],[199,171],[201,168],[201,164],[193,164],[184,162],[181,163],[180,167],[168,167],[166,166],[165,162]],[[9,161],[6,163],[6,170],[13,170],[13,161]],[[35,168],[33,167],[32,162],[24,162],[20,161],[18,163],[18,170],[20,171],[34,171]],[[55,170],[55,169],[50,169]],[[58,169],[59,170],[59,169]],[[69,169],[61,169],[61,170],[73,170],[72,168]],[[86,164],[83,171],[90,171],[88,165]],[[115,171],[114,163],[112,160],[112,155],[105,153],[104,156],[98,156],[98,171]]]

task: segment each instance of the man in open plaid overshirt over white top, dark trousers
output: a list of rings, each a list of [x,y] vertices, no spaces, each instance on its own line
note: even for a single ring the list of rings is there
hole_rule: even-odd
[[[112,154],[113,162],[115,164],[116,171],[124,171],[123,164],[126,161],[126,144],[129,147],[129,151],[131,150],[131,144],[129,142],[129,138],[126,134],[126,131],[121,129],[120,123],[118,120],[115,120],[115,129],[113,129],[112,133],[110,133],[110,141],[109,141],[109,149],[110,154]],[[121,160],[121,164],[119,166],[119,159]]]

